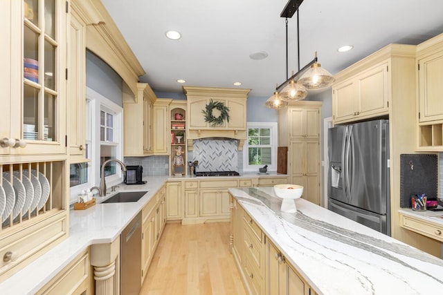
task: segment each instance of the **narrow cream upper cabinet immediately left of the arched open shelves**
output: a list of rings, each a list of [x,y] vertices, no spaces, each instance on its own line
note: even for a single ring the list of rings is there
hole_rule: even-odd
[[[154,102],[153,117],[153,141],[154,155],[169,155],[169,105],[172,99],[159,98]]]

